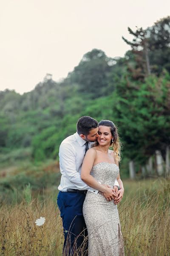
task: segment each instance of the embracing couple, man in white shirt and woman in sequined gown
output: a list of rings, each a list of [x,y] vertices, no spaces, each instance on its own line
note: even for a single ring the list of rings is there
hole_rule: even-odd
[[[109,150],[112,145],[113,151]],[[62,141],[57,204],[64,256],[124,255],[117,209],[124,193],[119,150],[114,123],[102,120],[98,124],[90,116],[82,116],[77,132]]]

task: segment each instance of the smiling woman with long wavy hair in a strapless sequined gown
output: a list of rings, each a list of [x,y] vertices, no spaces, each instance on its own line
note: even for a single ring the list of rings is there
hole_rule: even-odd
[[[82,163],[81,178],[89,186],[102,191],[87,192],[83,215],[88,230],[88,256],[122,256],[123,239],[119,213],[113,197],[105,199],[106,185],[113,188],[117,179],[119,198],[124,193],[119,175],[119,135],[116,126],[109,120],[99,122],[99,138],[89,149]],[[113,145],[113,151],[109,147]]]

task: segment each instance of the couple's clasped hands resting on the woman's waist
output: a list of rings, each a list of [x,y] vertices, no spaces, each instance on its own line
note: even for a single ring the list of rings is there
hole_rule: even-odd
[[[114,204],[119,204],[119,202],[123,198],[124,189],[119,189],[118,190],[117,186],[113,186],[113,189],[112,189],[111,186],[109,186],[107,184],[102,184],[102,185],[107,188],[106,191],[102,193],[102,195],[105,196],[107,201],[114,200]]]

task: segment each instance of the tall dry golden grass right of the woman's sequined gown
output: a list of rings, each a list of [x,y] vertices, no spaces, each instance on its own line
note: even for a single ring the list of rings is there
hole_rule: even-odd
[[[170,256],[170,185],[126,198],[119,207],[126,256]]]

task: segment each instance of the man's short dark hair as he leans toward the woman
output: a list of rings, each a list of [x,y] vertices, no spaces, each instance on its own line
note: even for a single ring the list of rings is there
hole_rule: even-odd
[[[82,116],[77,122],[77,133],[87,136],[91,129],[97,128],[98,122],[90,116]]]

